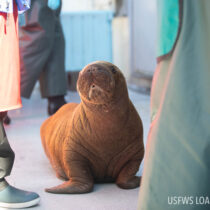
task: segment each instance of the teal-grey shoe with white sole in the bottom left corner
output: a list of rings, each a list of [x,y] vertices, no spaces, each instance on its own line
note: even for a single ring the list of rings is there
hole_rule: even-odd
[[[10,186],[4,181],[5,187],[0,191],[0,207],[27,208],[39,203],[40,197],[33,192],[27,192]]]

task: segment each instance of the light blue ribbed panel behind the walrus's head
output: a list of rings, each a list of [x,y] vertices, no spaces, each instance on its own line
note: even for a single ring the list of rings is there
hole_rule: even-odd
[[[96,60],[112,62],[111,11],[61,14],[66,43],[66,71],[79,71]]]

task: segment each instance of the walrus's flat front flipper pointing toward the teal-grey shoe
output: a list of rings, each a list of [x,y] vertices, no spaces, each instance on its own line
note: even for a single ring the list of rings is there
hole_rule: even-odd
[[[80,183],[76,181],[67,181],[56,187],[45,189],[46,192],[55,194],[82,194],[93,190],[93,183]]]

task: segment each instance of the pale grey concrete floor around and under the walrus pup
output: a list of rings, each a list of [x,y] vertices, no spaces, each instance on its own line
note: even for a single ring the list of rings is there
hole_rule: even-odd
[[[150,97],[129,91],[144,124],[144,140],[149,129]],[[68,92],[68,102],[80,102],[76,92]],[[23,100],[23,108],[9,112],[12,124],[6,132],[16,158],[11,175],[7,178],[15,187],[35,191],[41,202],[34,210],[135,210],[139,188],[122,190],[115,184],[96,184],[94,191],[82,195],[55,195],[44,191],[62,183],[55,177],[41,145],[40,126],[47,118],[47,101],[41,99],[36,89],[30,100]],[[142,166],[138,172],[142,173]]]

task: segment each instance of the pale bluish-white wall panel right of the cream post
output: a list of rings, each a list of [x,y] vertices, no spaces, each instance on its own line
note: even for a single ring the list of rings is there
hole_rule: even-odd
[[[133,0],[131,19],[134,71],[153,75],[156,66],[156,0]]]

